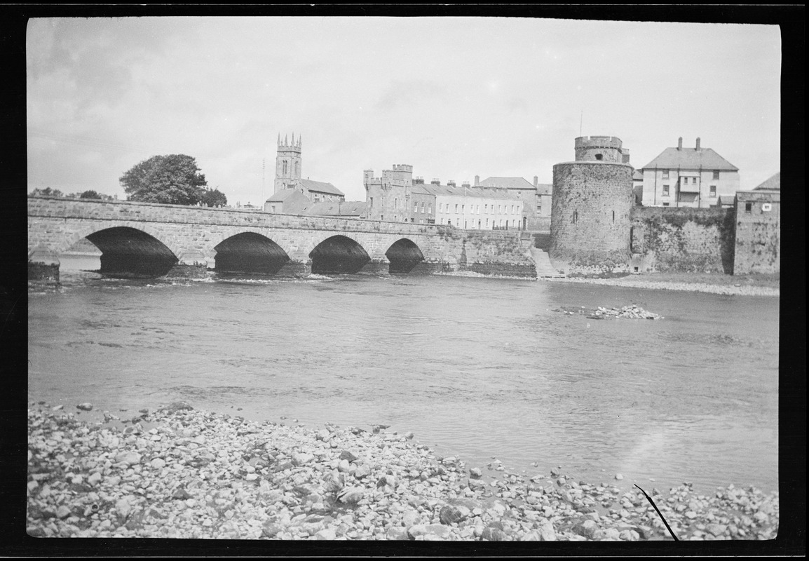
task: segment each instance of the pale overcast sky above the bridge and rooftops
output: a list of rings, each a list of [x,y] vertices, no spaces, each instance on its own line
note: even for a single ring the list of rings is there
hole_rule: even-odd
[[[752,189],[779,171],[774,25],[518,18],[32,19],[28,191],[95,189],[153,155],[197,159],[235,204],[273,192],[277,135],[303,177],[364,201],[362,171],[553,182],[574,138],[642,168],[683,137]]]

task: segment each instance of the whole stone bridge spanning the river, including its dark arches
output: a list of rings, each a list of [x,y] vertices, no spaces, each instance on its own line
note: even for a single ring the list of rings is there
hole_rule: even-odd
[[[146,202],[28,198],[28,277],[58,280],[58,256],[87,238],[102,274],[429,274],[470,270],[536,278],[531,240],[515,231]]]

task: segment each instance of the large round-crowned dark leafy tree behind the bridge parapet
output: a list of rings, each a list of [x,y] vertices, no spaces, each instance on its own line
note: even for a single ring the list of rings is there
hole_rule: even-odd
[[[127,200],[196,205],[202,198],[205,175],[197,161],[184,154],[157,155],[142,161],[123,176]]]

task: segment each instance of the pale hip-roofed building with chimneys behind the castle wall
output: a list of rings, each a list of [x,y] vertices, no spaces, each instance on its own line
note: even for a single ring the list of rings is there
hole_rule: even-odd
[[[716,206],[739,190],[739,168],[711,148],[666,148],[642,168],[643,206]]]

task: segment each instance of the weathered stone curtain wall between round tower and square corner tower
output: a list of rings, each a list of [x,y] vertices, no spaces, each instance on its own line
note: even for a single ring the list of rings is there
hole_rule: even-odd
[[[634,207],[633,272],[732,274],[733,218],[733,209]]]

